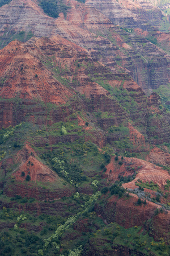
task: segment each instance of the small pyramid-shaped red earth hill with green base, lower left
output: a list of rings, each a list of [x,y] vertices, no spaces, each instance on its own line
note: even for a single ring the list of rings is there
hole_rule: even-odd
[[[62,184],[56,172],[40,162],[28,144],[18,151],[14,163],[19,166],[11,173],[10,183],[5,185],[4,191],[7,196],[20,195],[39,200],[54,200],[70,196],[74,192],[74,188],[69,184]],[[25,181],[27,175],[31,177],[30,181]]]

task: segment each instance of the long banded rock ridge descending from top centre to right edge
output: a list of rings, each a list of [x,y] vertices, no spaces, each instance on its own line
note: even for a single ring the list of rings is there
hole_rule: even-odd
[[[88,6],[91,4],[93,5],[94,2],[90,3]],[[107,6],[108,3],[103,1],[101,4]],[[117,5],[118,3],[115,1],[115,4]],[[96,3],[96,5],[100,6],[98,3]],[[121,62],[121,68],[126,68],[124,72],[132,75],[133,79],[147,93],[150,93],[151,89],[156,89],[160,85],[167,84],[170,59],[165,52],[141,36],[130,35],[124,30],[119,30],[118,27],[113,26],[109,19],[107,20],[104,15],[101,15],[101,10],[101,13],[97,13],[96,9],[87,8],[80,5],[80,3],[76,4],[74,1],[71,1],[71,6],[72,9],[67,15],[69,22],[66,24],[65,20],[59,18],[57,20],[58,27],[62,31],[67,31],[69,37],[74,35],[74,40],[76,40],[77,44],[88,46],[88,51],[91,51],[91,48],[93,48],[91,56],[97,57],[97,59],[107,65],[115,76],[120,76],[120,72],[117,71],[118,68],[115,65],[115,60],[117,60]],[[110,10],[114,11],[114,9],[109,8],[109,11]],[[100,26],[101,23],[103,26]],[[78,25],[80,26],[79,31]],[[67,26],[67,30],[65,26]],[[94,37],[90,39],[92,35],[87,32],[86,36],[84,36],[84,30],[82,30],[82,28],[94,33],[96,33],[96,30],[99,30],[100,34],[105,38],[98,36],[95,40]],[[77,37],[78,34],[79,39]],[[82,37],[84,40],[82,40]],[[70,40],[73,39],[70,38]],[[113,41],[116,42],[117,47],[115,43],[113,44]],[[86,42],[86,45],[84,42]],[[118,47],[121,47],[122,51],[120,51]],[[126,51],[129,53],[129,58],[124,54]],[[122,72],[121,76],[123,76]]]

